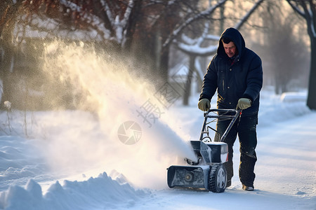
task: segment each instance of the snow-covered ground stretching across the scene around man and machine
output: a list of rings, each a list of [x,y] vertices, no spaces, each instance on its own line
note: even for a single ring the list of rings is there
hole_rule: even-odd
[[[0,209],[316,209],[316,113],[306,108],[304,97],[284,102],[268,90],[261,96],[256,190],[242,190],[236,175],[225,193],[169,189],[166,167],[180,160],[173,159],[176,143],[166,141],[173,141],[173,132],[199,136],[202,112],[193,104],[169,109],[173,123],[154,130],[156,122],[149,130],[171,138],[153,137],[159,142],[144,148],[137,146],[150,141],[143,137],[133,145],[118,138],[117,145],[108,145],[98,120],[87,112],[32,113],[33,137],[0,137]],[[23,132],[21,116],[11,113],[11,133]],[[2,113],[6,132],[7,120]]]

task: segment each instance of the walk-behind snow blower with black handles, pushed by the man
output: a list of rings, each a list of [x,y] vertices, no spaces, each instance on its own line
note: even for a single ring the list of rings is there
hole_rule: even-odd
[[[241,110],[235,109],[209,109],[204,113],[204,123],[199,140],[190,141],[193,151],[197,155],[197,162],[185,158],[187,165],[169,167],[167,169],[169,188],[202,189],[213,193],[225,191],[227,174],[223,163],[228,161],[228,145],[224,141],[232,125],[241,114]],[[210,129],[219,134],[216,129],[209,126],[210,123],[217,120],[231,120],[223,137],[220,137],[218,142],[212,141],[209,137]]]

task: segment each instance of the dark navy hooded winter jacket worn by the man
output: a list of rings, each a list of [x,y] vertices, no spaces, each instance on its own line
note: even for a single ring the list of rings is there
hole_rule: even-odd
[[[229,38],[237,47],[237,55],[226,55],[222,38]],[[211,59],[204,76],[199,99],[209,99],[218,92],[218,109],[236,109],[240,98],[251,99],[252,106],[242,111],[243,116],[258,113],[259,92],[263,83],[261,59],[245,47],[242,34],[234,28],[226,29],[220,36],[217,54]]]

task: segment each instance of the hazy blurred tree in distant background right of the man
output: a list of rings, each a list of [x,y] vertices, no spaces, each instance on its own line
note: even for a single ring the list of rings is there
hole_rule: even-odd
[[[298,25],[300,20],[294,13],[284,10],[279,2],[268,4],[261,17],[265,36],[259,51],[266,61],[265,75],[272,78],[276,94],[294,90],[300,85],[294,83],[298,83],[298,79],[302,80],[301,76],[305,75],[308,66],[305,64],[309,61],[305,44],[294,35],[293,26]]]

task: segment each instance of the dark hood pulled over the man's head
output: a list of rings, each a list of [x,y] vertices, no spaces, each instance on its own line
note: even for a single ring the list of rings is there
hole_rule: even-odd
[[[242,34],[240,34],[240,32],[234,28],[228,28],[223,31],[223,34],[220,36],[217,54],[220,56],[227,56],[223,47],[223,43],[221,41],[222,38],[229,38],[233,43],[235,43],[240,58],[245,48],[244,38],[242,37]]]

